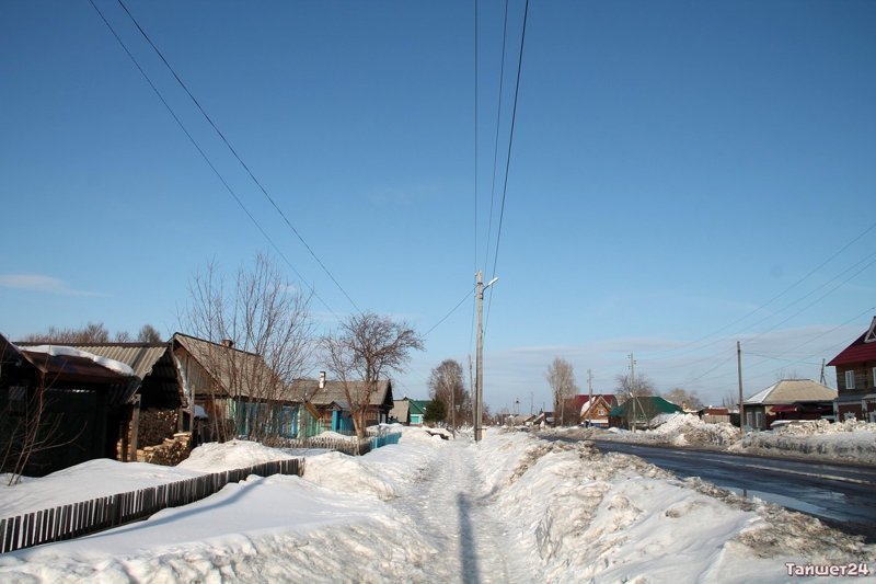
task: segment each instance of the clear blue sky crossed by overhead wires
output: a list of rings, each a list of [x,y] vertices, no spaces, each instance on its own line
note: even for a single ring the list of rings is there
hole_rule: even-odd
[[[331,309],[314,302],[321,325],[354,310],[119,4],[95,2]],[[471,2],[126,4],[357,306],[425,332],[493,275],[522,2],[502,92],[504,4],[480,2],[476,199]],[[532,2],[491,406],[550,404],[555,356],[612,391],[630,353],[658,389],[719,402],[736,341],[747,394],[817,379],[876,314],[874,30],[865,1]],[[170,334],[196,271],[274,253],[88,1],[3,2],[0,55],[0,332]],[[397,393],[468,364],[472,316],[428,334]]]

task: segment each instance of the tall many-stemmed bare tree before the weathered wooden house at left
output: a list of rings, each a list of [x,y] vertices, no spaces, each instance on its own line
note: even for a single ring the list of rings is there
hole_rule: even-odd
[[[292,380],[301,377],[313,354],[309,306],[310,295],[291,286],[264,254],[238,270],[233,287],[226,285],[214,263],[189,285],[181,325],[214,343],[208,365],[229,379],[234,421],[251,439],[277,435],[277,408],[288,401]],[[141,336],[157,334],[145,329]],[[246,353],[261,356],[267,367]],[[227,431],[217,417],[214,430],[222,439]]]

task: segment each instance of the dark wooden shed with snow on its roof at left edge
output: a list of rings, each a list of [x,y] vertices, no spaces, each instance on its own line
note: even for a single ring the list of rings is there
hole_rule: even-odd
[[[122,363],[70,347],[19,347],[0,335],[0,472],[42,477],[115,458],[122,426],[114,421],[139,386]],[[16,453],[28,444],[22,465]]]

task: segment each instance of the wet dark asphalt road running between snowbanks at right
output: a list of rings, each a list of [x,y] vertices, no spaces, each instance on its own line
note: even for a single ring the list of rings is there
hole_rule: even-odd
[[[602,451],[642,457],[681,478],[700,477],[746,496],[814,515],[832,527],[863,535],[868,543],[876,543],[876,467],[616,442],[595,444]]]

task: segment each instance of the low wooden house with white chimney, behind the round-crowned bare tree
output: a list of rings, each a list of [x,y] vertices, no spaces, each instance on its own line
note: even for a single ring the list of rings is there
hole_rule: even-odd
[[[366,394],[365,381],[348,381],[345,388],[343,381],[328,380],[325,374],[320,374],[319,379],[295,380],[292,394],[306,403],[308,413],[315,417],[316,422],[315,428],[311,427],[307,433],[302,432],[302,435],[327,430],[341,433],[354,432],[353,409],[346,389],[349,389],[354,399]],[[392,382],[389,379],[379,380],[366,409],[366,426],[388,423],[394,405]]]

